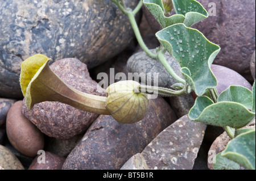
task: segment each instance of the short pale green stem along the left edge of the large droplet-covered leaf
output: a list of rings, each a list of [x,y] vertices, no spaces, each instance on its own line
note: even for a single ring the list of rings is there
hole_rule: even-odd
[[[174,69],[171,68],[171,66],[168,64],[166,57],[164,57],[164,53],[166,52],[166,49],[161,49],[158,52],[158,60],[163,64],[164,68],[168,71],[168,73],[177,81],[180,83],[183,83],[185,85],[185,80],[180,78],[179,75],[177,75],[174,71]]]

